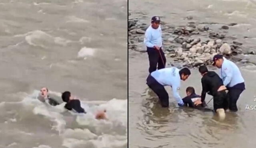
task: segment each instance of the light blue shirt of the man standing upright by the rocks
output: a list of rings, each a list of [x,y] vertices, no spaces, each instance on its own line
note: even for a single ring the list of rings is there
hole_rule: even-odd
[[[162,29],[160,25],[157,29],[152,28],[151,25],[148,27],[145,33],[144,44],[151,48],[154,46],[162,47]]]

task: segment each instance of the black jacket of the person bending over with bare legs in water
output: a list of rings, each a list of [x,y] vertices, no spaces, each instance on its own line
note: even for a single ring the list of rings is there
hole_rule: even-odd
[[[217,95],[218,89],[223,85],[222,79],[214,71],[208,71],[202,79],[202,94],[201,101],[203,102],[206,96],[206,93],[209,92],[209,95]]]

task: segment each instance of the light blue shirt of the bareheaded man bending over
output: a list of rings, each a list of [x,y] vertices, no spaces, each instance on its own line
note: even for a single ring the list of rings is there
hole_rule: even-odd
[[[154,79],[156,79],[156,81],[161,85],[171,86],[173,97],[179,104],[183,105],[184,103],[178,93],[181,81],[179,71],[180,70],[176,67],[164,68],[153,71],[151,76],[154,77]]]

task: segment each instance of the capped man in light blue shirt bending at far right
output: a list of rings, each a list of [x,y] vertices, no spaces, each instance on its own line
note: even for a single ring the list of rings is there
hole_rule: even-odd
[[[239,68],[235,63],[220,54],[214,55],[212,65],[221,70],[221,79],[228,89],[230,111],[238,111],[236,102],[240,94],[245,90],[244,78]]]

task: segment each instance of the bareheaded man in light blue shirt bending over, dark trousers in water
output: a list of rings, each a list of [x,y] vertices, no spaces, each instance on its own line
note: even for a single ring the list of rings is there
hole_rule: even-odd
[[[169,96],[164,86],[172,87],[174,99],[179,106],[184,105],[178,91],[180,90],[180,81],[185,81],[190,75],[188,68],[179,70],[176,67],[164,68],[156,70],[148,75],[147,85],[158,96],[162,107],[169,107]]]

